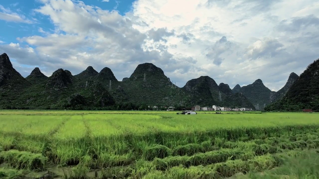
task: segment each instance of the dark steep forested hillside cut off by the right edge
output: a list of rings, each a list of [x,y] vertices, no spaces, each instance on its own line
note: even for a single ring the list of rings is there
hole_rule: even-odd
[[[295,75],[294,75],[295,76]],[[296,77],[296,76],[295,76]],[[267,105],[267,111],[300,111],[312,109],[319,111],[319,59],[293,82],[284,97]]]

